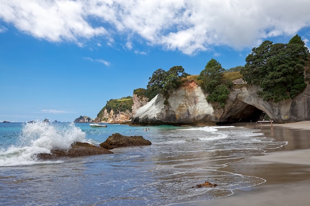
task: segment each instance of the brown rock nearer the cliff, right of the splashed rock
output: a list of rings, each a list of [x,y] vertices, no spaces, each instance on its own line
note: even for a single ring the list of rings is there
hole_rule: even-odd
[[[115,133],[109,136],[100,146],[111,150],[117,147],[144,146],[151,144],[149,140],[144,139],[142,136],[123,136],[119,133]]]

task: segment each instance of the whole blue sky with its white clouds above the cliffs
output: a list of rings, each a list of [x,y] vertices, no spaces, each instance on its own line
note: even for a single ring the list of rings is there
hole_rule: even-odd
[[[310,46],[310,1],[0,0],[0,122],[96,118],[155,70],[244,65],[264,40]]]

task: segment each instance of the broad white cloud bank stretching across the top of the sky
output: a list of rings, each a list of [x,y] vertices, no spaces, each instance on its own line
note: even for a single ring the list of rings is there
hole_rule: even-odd
[[[309,0],[0,0],[0,19],[47,41],[120,38],[127,48],[139,41],[192,55],[293,37],[310,27],[309,8]]]

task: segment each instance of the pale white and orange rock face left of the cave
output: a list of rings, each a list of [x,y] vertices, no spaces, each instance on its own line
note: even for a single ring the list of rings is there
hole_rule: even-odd
[[[167,99],[157,94],[145,106],[138,109],[132,118],[133,124],[193,124],[217,122],[212,105],[195,82],[189,82],[171,93]]]

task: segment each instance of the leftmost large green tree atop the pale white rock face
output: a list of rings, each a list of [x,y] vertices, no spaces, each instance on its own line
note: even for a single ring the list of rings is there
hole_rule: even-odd
[[[149,83],[147,85],[146,96],[151,100],[158,93],[167,95],[169,91],[177,89],[181,84],[180,80],[187,77],[188,74],[184,72],[182,66],[174,66],[169,69],[169,71],[164,71],[162,69],[157,69],[152,78],[149,78]]]

